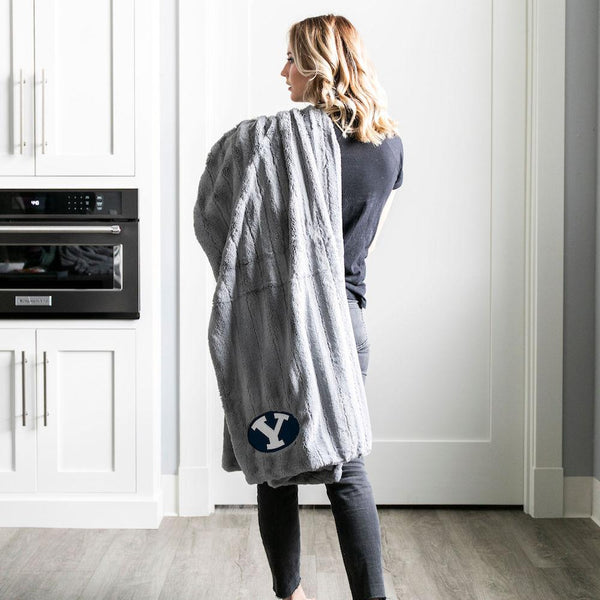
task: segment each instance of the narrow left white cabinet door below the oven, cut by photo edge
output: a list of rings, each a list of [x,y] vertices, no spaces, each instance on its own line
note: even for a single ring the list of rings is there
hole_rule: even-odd
[[[3,492],[35,490],[35,380],[31,368],[34,360],[35,330],[0,330],[0,490]]]

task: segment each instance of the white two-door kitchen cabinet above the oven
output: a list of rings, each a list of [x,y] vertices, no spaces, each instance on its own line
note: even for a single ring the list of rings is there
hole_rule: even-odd
[[[134,175],[134,0],[0,0],[0,175]]]

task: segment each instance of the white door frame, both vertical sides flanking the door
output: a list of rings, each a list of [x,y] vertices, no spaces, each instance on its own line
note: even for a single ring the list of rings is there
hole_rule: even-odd
[[[231,0],[230,0],[231,1]],[[493,0],[491,0],[493,2]],[[206,339],[214,276],[191,224],[198,179],[218,132],[218,0],[178,2],[179,515],[214,511],[211,398],[218,397]],[[222,2],[221,2],[222,4]],[[251,3],[245,3],[245,10]],[[241,18],[241,11],[235,15]],[[562,517],[564,149],[566,0],[527,0],[524,512]],[[213,53],[214,56],[214,53]],[[217,136],[217,137],[215,137]],[[191,260],[198,257],[198,262]],[[201,265],[190,269],[190,265]],[[200,384],[200,385],[199,385]]]

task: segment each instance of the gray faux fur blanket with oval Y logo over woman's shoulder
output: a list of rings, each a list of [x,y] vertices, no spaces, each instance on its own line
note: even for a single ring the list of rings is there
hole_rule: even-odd
[[[312,104],[241,121],[210,150],[194,230],[216,288],[208,328],[222,467],[250,484],[340,480],[370,453],[346,299],[341,162]]]

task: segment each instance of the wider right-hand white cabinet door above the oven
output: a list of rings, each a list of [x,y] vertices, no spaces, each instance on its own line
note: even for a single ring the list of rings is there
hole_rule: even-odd
[[[36,175],[134,175],[134,0],[35,0]]]

